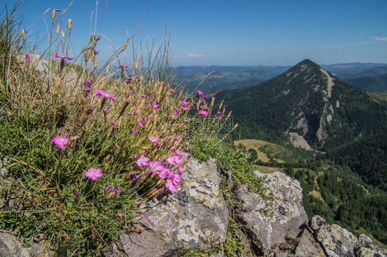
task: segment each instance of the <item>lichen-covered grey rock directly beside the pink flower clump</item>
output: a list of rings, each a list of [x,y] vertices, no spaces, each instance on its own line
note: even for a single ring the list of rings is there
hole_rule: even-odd
[[[147,230],[123,234],[118,249],[133,257],[180,256],[186,249],[209,249],[226,240],[229,212],[215,161],[190,159],[182,179],[178,192],[140,221]]]

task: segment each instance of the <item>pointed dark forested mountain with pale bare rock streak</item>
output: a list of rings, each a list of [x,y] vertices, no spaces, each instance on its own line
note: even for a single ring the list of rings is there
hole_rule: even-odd
[[[297,134],[298,139],[302,137],[319,150],[379,133],[387,124],[386,106],[309,59],[260,85],[219,92],[216,98],[228,103],[235,118],[287,135]],[[383,113],[383,121],[369,113]],[[359,124],[374,124],[377,129],[370,131]]]

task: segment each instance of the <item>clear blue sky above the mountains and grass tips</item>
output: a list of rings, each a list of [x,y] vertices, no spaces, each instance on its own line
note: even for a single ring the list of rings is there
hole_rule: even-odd
[[[23,27],[44,36],[42,17],[50,26],[52,8],[65,10],[70,2],[23,1]],[[74,0],[61,27],[72,19],[72,44],[79,52],[94,32],[97,14],[101,60],[112,53],[105,37],[121,47],[138,31],[131,43],[146,48],[152,38],[163,43],[167,31],[174,65],[295,65],[304,58],[320,65],[387,63],[386,10],[385,0],[100,0],[97,8],[95,0]],[[130,63],[130,56],[131,45],[123,62]]]

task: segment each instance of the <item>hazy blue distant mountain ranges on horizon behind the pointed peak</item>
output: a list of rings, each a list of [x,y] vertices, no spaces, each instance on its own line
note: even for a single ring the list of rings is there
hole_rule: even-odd
[[[342,63],[322,65],[338,78],[368,91],[387,92],[387,64],[384,63]],[[208,93],[216,89],[252,87],[282,74],[290,66],[182,66],[176,68],[176,84],[184,84],[188,91],[200,82],[200,90]],[[379,77],[381,76],[381,77]],[[375,78],[371,78],[375,77]],[[356,78],[356,79],[355,79]],[[368,79],[370,78],[370,79]]]

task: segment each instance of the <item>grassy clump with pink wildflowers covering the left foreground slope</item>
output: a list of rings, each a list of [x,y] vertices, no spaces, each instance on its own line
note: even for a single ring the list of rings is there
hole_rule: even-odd
[[[52,10],[43,55],[26,45],[18,10],[5,8],[0,24],[1,226],[25,245],[43,234],[59,254],[98,255],[121,232],[144,229],[141,203],[176,192],[189,140],[215,142],[221,126],[208,125],[224,109],[212,117],[213,101],[173,84],[167,37],[108,71],[128,38],[98,71],[100,38],[74,54],[71,19],[61,22],[68,8]]]

